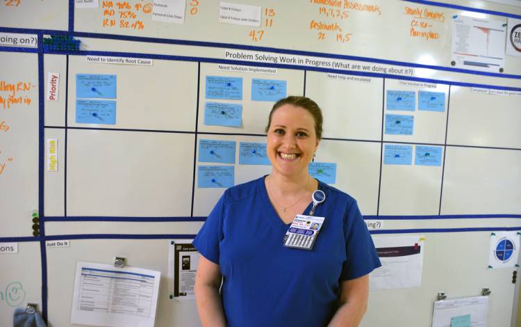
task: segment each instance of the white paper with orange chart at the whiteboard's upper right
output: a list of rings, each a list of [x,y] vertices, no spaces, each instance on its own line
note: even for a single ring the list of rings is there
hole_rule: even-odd
[[[505,67],[504,22],[456,16],[452,24],[454,67],[502,72]]]

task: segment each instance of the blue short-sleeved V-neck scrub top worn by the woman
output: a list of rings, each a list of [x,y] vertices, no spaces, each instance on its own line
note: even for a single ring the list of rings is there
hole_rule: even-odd
[[[326,326],[340,282],[381,266],[369,231],[356,200],[319,181],[326,200],[315,216],[325,221],[315,246],[284,247],[290,224],[276,214],[264,178],[227,189],[193,244],[220,266],[228,326]]]

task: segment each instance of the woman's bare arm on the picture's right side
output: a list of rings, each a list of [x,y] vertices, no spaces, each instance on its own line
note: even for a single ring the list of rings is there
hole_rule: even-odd
[[[340,284],[340,307],[329,327],[356,327],[367,309],[369,274]]]

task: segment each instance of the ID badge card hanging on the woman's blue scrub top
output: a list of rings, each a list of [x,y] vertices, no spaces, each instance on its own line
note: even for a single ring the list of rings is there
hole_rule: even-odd
[[[311,250],[317,240],[318,232],[324,225],[324,217],[297,214],[284,235],[284,246]]]

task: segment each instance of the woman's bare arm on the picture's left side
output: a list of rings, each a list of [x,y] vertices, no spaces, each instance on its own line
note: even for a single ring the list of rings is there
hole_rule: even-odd
[[[197,312],[199,312],[199,319],[204,327],[226,327],[219,294],[221,278],[219,265],[202,255],[199,256],[194,289]]]

